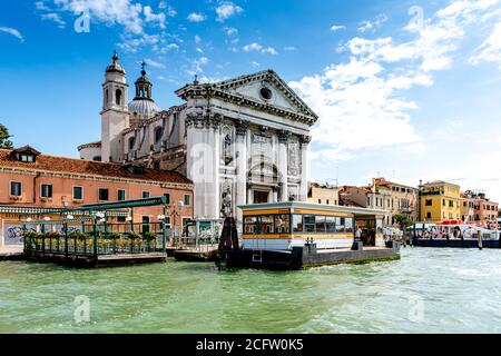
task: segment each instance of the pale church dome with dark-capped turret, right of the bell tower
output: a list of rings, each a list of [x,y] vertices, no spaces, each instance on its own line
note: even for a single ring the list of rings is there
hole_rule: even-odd
[[[161,111],[154,99],[151,99],[153,83],[146,76],[145,66],[146,63],[143,62],[141,77],[136,80],[136,97],[129,103],[129,112],[132,115],[132,118],[137,117],[141,120],[150,119]]]

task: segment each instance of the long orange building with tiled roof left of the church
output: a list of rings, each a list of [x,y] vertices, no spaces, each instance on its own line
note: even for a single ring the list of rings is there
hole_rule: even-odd
[[[21,219],[53,218],[65,208],[164,196],[170,209],[167,225],[181,228],[193,218],[193,184],[178,172],[135,165],[104,164],[52,157],[26,146],[0,149],[0,246]],[[179,209],[178,201],[183,201]],[[158,222],[161,207],[117,214],[125,222]]]

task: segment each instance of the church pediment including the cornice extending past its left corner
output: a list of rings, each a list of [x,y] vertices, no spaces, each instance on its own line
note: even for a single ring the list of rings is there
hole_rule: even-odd
[[[314,125],[317,115],[273,70],[261,71],[210,85],[194,82],[176,93],[190,97],[219,97],[242,106],[254,107]]]

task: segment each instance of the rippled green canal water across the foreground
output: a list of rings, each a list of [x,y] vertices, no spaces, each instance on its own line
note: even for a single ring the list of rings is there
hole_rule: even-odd
[[[0,333],[501,333],[500,250],[402,255],[291,273],[0,263]]]

